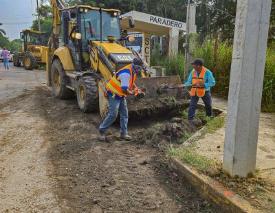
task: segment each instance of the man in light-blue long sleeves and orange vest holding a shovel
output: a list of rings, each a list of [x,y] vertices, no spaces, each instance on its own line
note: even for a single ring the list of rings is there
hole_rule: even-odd
[[[214,86],[215,84],[214,77],[209,69],[203,67],[203,60],[201,58],[196,58],[193,62],[191,62],[191,65],[193,65],[194,69],[191,71],[187,82],[185,82],[183,85],[179,85],[179,87],[192,85],[190,92],[191,98],[188,110],[188,120],[194,120],[199,98],[203,100],[206,109],[206,115],[212,118],[213,113],[210,87]]]

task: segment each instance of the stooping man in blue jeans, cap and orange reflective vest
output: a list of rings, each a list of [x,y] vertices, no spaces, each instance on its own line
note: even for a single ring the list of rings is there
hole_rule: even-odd
[[[142,71],[142,66],[142,59],[134,58],[133,63],[117,71],[113,78],[107,83],[106,89],[109,95],[109,113],[98,129],[98,139],[100,141],[106,141],[104,133],[107,128],[115,122],[116,117],[118,117],[118,112],[120,112],[120,138],[125,140],[132,139],[127,132],[128,109],[126,96],[135,96],[141,92],[135,85],[135,77]],[[132,88],[133,91],[131,91]]]

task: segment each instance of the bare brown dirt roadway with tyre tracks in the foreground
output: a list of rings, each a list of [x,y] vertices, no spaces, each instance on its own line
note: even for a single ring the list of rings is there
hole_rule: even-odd
[[[168,169],[167,137],[153,146],[140,140],[170,116],[131,120],[134,142],[119,139],[119,124],[99,142],[99,113],[82,113],[45,87],[0,107],[1,212],[218,212]]]

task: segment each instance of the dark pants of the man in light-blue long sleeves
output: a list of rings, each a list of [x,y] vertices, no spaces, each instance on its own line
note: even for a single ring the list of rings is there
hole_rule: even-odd
[[[212,118],[213,117],[212,99],[211,99],[210,91],[206,91],[205,95],[203,97],[201,97],[201,99],[203,100],[203,103],[204,103],[204,106],[206,109],[206,115]],[[198,101],[199,101],[198,96],[191,96],[190,106],[189,106],[189,110],[188,110],[188,120],[194,120]]]

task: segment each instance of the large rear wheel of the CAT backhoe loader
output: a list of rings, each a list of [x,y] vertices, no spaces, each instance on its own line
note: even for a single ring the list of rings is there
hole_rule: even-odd
[[[52,94],[58,99],[72,99],[75,92],[66,86],[70,84],[69,77],[66,76],[63,65],[59,59],[55,59],[51,69]]]

